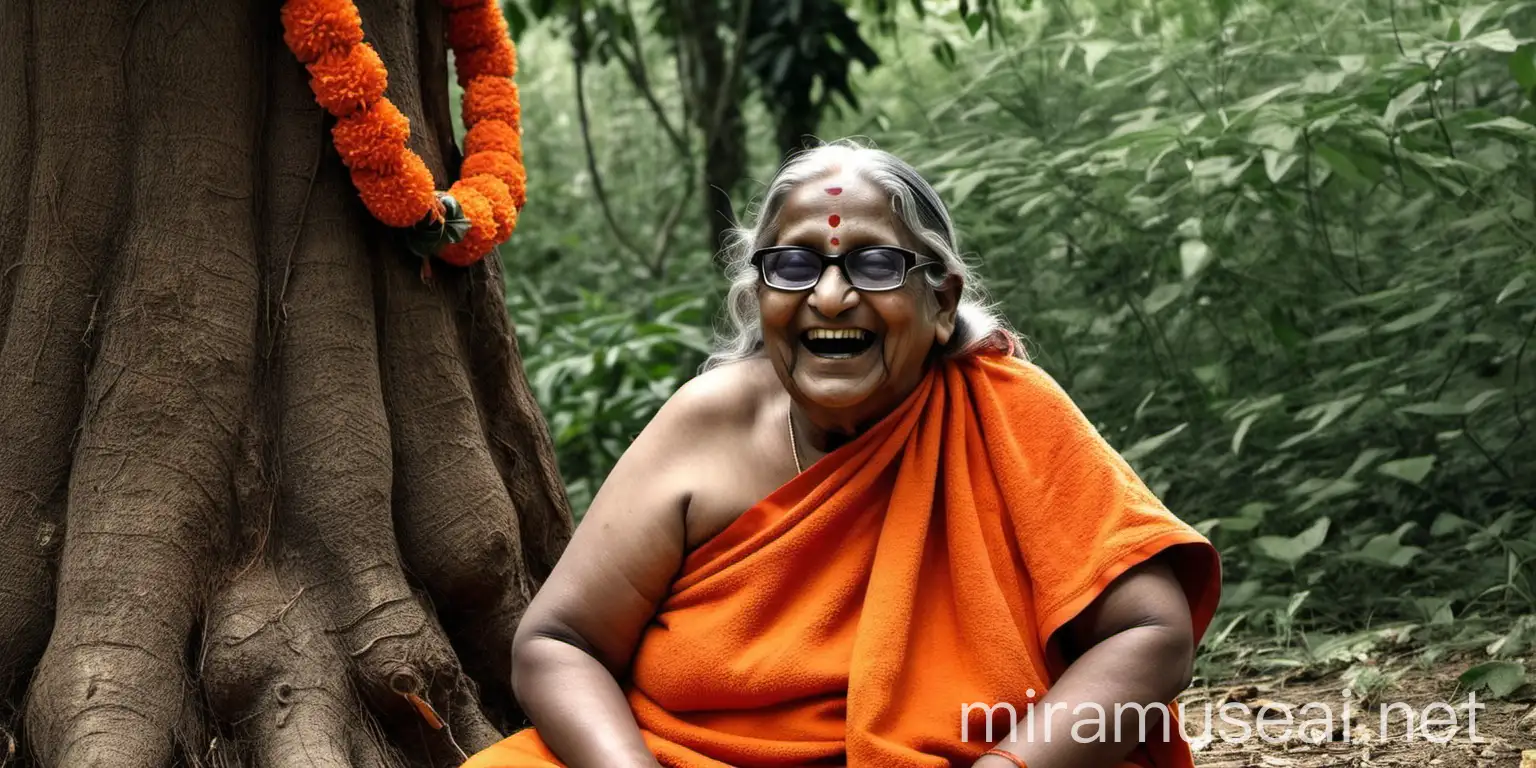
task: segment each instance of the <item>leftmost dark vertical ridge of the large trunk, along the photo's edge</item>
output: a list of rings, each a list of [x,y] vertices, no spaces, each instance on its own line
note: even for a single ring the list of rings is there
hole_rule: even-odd
[[[0,109],[0,705],[8,710],[22,707],[54,619],[86,341],[104,272],[97,255],[115,247],[114,209],[126,207],[129,181],[123,94],[101,78],[75,81],[68,66],[118,49],[126,37],[117,22],[75,6],[0,9],[0,28],[35,23],[40,35],[58,35],[54,46],[0,45],[8,104]],[[14,61],[28,52],[34,65]],[[81,100],[94,106],[89,114],[77,114]],[[34,149],[32,114],[40,134],[68,129]],[[68,203],[77,200],[86,203]]]

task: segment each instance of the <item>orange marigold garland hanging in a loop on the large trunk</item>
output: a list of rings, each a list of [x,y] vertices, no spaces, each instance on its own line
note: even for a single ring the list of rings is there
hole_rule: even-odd
[[[462,178],[445,194],[409,146],[410,120],[384,97],[389,71],[364,41],[352,0],[284,0],[283,41],[309,71],[315,103],[336,118],[332,141],[373,218],[429,232],[441,244],[438,258],[468,266],[511,237],[527,204],[522,106],[511,80],[518,51],[498,0],[439,3],[449,9],[468,129]],[[449,210],[462,217],[461,226],[447,226]]]

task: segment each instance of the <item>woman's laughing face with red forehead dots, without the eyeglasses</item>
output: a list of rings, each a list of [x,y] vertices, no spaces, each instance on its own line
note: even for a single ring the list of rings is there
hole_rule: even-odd
[[[846,253],[900,246],[931,261],[891,209],[880,187],[854,174],[833,174],[790,194],[779,212],[777,246]],[[859,292],[842,269],[799,292],[759,283],[763,347],[790,395],[819,425],[854,432],[894,409],[922,381],[935,344],[955,327],[960,286],[935,290],[923,270],[886,292]],[[843,336],[825,339],[828,332]],[[848,339],[849,332],[857,338]]]

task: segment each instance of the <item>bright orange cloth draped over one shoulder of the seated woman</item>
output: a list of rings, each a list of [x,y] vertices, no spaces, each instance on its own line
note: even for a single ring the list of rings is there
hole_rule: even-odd
[[[1198,641],[1215,548],[1041,369],[963,356],[690,553],[622,684],[667,766],[965,766],[1009,728],[965,707],[1023,734],[1052,634],[1170,548]],[[1161,736],[1126,765],[1190,768]],[[530,728],[465,768],[550,765]]]

